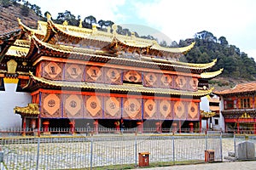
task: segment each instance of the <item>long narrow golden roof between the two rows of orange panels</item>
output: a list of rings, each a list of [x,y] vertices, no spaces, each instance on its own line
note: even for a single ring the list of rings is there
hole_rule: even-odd
[[[113,84],[103,84],[103,83],[93,83],[93,82],[68,82],[68,81],[53,81],[45,79],[44,77],[35,77],[30,73],[32,79],[43,82],[45,84],[60,87],[60,88],[90,88],[97,90],[116,90],[123,92],[135,92],[135,93],[148,93],[148,94],[172,94],[172,95],[188,95],[188,96],[205,96],[211,94],[213,88],[208,90],[198,90],[197,92],[193,91],[184,91],[176,90],[171,88],[146,88],[143,86],[131,86],[131,85],[113,85]]]

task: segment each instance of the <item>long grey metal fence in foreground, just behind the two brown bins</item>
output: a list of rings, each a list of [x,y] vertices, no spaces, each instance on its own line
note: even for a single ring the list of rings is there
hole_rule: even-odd
[[[214,150],[222,161],[222,136],[99,135],[0,138],[2,169],[70,169],[130,164],[137,167],[138,153],[149,152],[149,162],[205,161]],[[1,170],[2,170],[1,169]]]

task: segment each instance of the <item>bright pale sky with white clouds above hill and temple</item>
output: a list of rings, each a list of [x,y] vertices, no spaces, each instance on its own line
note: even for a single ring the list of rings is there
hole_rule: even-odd
[[[166,42],[210,31],[226,37],[230,45],[256,61],[255,0],[28,0],[55,19],[58,13],[70,11],[75,16],[93,15],[96,20],[115,24],[140,36],[151,34]]]

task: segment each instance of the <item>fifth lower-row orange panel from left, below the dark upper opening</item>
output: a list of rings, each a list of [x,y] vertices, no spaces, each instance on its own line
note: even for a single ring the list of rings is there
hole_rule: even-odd
[[[123,99],[124,119],[142,119],[142,99]]]

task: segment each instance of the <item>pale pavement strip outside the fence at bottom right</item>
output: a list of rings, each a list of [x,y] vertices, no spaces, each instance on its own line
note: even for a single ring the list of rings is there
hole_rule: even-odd
[[[137,168],[139,169],[139,168]],[[255,170],[256,161],[224,161],[171,167],[141,168],[142,170]]]

